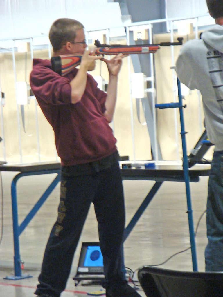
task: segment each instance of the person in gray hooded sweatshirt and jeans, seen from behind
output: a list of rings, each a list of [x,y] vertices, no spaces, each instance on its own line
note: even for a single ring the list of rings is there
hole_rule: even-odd
[[[178,78],[202,94],[205,127],[215,145],[208,181],[205,270],[223,271],[223,1],[207,0],[216,25],[186,42],[176,62]]]

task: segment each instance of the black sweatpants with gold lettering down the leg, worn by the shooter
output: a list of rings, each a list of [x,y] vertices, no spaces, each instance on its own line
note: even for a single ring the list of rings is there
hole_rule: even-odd
[[[45,249],[40,284],[35,294],[59,297],[65,290],[81,231],[94,203],[106,281],[121,276],[120,247],[125,225],[125,206],[118,162],[87,176],[63,176],[58,218]]]

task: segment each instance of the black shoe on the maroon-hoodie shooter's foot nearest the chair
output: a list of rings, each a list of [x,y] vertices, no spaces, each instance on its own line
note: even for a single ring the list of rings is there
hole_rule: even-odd
[[[106,288],[106,297],[141,297],[126,281],[118,282]]]

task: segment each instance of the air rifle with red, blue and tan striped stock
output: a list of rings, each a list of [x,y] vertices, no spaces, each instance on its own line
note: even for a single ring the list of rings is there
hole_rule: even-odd
[[[96,48],[93,49],[92,55],[125,55],[156,53],[160,46],[182,45],[183,38],[178,37],[178,42],[161,42],[155,44],[142,45],[121,45],[121,44],[101,44],[95,40]],[[82,54],[62,55],[51,58],[52,69],[59,75],[65,76],[81,63]]]

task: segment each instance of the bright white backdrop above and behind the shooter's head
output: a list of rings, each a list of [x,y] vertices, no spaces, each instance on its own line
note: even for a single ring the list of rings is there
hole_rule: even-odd
[[[1,0],[0,39],[48,34],[54,20],[64,17],[87,30],[123,26],[119,3],[107,0]]]

